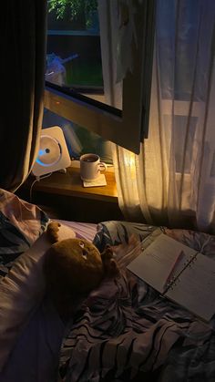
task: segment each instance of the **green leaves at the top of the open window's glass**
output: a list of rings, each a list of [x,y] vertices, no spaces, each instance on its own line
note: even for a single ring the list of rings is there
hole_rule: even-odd
[[[97,10],[97,0],[48,0],[48,12],[55,11],[57,19],[63,19],[69,13],[71,20],[81,14],[86,16],[86,26],[92,26],[93,12]]]

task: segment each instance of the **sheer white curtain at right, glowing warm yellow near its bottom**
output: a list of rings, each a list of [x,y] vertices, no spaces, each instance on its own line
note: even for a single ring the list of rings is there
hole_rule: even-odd
[[[215,232],[214,21],[213,0],[157,1],[148,139],[113,148],[129,220]]]

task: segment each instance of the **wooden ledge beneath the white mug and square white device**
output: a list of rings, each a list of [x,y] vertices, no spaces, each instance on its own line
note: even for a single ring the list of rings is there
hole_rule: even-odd
[[[107,186],[84,188],[79,168],[71,166],[66,173],[54,172],[36,181],[32,191],[35,178],[30,175],[15,193],[39,205],[51,218],[77,222],[124,220],[118,207],[114,172],[107,170],[105,175]]]

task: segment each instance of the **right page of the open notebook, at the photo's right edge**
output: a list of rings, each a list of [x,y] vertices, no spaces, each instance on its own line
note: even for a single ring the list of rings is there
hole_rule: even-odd
[[[196,260],[180,274],[167,297],[209,321],[215,313],[215,261],[198,253]]]

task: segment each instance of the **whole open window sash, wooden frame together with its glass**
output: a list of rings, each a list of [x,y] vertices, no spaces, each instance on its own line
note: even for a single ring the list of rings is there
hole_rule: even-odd
[[[148,132],[155,2],[49,0],[48,6],[45,107],[138,153]],[[123,28],[129,45],[120,40]],[[118,48],[132,68],[116,85]],[[116,87],[118,101],[111,95]]]

